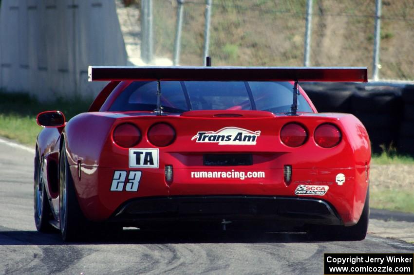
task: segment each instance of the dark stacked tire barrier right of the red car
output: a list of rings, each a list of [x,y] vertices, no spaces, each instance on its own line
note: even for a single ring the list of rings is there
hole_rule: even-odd
[[[352,113],[364,124],[373,153],[397,149],[414,155],[414,85],[369,86],[355,83],[301,85],[319,112]]]

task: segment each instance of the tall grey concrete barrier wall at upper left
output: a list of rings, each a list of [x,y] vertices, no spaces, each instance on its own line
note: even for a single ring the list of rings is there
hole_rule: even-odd
[[[113,0],[2,0],[0,88],[39,100],[94,97],[88,65],[126,65]]]

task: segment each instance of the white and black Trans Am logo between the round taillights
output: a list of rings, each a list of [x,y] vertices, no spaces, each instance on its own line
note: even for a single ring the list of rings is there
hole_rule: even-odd
[[[197,132],[191,140],[196,142],[218,143],[219,145],[256,145],[260,131],[250,131],[237,127],[225,127],[218,131]]]

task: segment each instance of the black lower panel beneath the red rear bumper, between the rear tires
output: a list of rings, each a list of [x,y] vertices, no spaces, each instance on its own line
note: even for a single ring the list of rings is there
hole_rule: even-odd
[[[275,196],[180,196],[124,203],[109,221],[140,223],[185,220],[271,221],[282,225],[342,225],[328,202]]]

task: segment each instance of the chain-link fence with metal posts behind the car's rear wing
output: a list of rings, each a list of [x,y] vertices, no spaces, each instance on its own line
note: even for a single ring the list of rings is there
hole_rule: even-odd
[[[177,65],[203,65],[209,21],[213,65],[303,66],[306,22],[311,19],[307,65],[367,66],[371,77],[377,18],[378,77],[414,80],[413,0],[382,0],[379,14],[376,0],[313,0],[310,10],[307,0],[139,2],[151,2],[151,16],[141,15],[141,25],[151,26],[152,38],[142,37],[143,46],[152,44],[142,53],[149,60],[160,56]],[[209,2],[211,18],[206,20]]]

